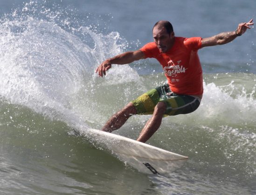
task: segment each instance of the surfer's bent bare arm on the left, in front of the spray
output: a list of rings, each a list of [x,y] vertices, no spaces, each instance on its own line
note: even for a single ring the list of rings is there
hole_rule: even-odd
[[[98,73],[99,77],[103,77],[103,74],[106,75],[106,71],[111,68],[112,64],[116,65],[125,65],[130,64],[139,59],[144,59],[145,55],[142,51],[132,51],[132,52],[124,52],[119,54],[113,58],[106,59],[101,65],[99,65],[96,69],[96,73]]]

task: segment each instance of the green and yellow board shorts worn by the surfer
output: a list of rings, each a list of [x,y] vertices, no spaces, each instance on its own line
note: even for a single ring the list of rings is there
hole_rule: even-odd
[[[193,112],[199,107],[201,99],[190,95],[177,95],[170,90],[168,84],[165,84],[149,90],[131,101],[139,115],[153,114],[154,108],[159,102],[166,104],[165,115],[174,116]]]

